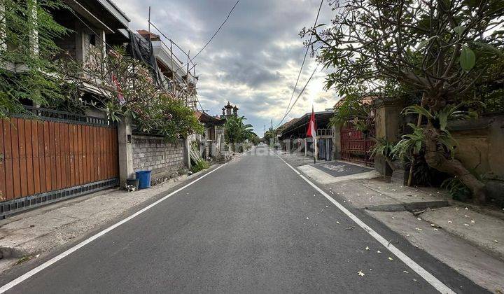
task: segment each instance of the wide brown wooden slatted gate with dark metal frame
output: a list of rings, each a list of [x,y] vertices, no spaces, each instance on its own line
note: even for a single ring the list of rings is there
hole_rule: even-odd
[[[38,117],[0,120],[0,216],[117,184],[115,125],[31,110]]]

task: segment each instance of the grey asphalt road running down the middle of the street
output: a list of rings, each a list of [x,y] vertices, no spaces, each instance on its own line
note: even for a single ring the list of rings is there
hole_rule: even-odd
[[[398,246],[454,291],[482,291],[411,247]],[[8,291],[321,292],[437,293],[265,146]]]

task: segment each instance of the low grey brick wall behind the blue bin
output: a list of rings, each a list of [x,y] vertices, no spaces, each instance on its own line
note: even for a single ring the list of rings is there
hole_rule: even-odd
[[[153,178],[172,177],[187,169],[184,141],[166,142],[160,137],[133,136],[133,169],[153,171]]]

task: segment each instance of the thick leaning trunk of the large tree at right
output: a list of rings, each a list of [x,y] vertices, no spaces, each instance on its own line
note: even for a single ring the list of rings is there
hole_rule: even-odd
[[[426,155],[427,164],[440,172],[445,172],[458,177],[465,186],[472,192],[472,200],[475,204],[484,203],[486,200],[486,190],[484,183],[473,176],[468,169],[463,167],[462,162],[456,159],[446,158],[444,151],[440,148],[440,131],[428,123],[426,128]]]

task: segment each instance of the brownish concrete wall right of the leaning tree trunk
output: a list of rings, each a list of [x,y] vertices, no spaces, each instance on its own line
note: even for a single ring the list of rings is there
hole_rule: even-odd
[[[504,114],[449,124],[458,141],[456,158],[477,174],[504,180]]]

